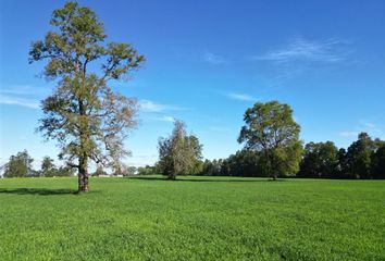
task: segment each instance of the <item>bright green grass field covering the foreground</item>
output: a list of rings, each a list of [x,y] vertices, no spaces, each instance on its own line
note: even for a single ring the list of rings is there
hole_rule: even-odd
[[[385,260],[385,181],[0,179],[0,260]]]

